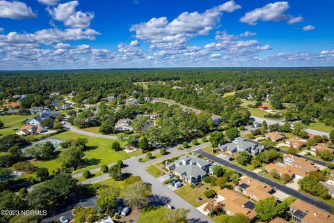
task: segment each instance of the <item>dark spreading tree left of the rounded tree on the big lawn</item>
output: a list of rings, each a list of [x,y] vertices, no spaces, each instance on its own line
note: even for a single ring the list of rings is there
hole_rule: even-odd
[[[25,151],[25,154],[30,155],[36,160],[50,160],[54,155],[55,149],[56,148],[54,148],[54,144],[51,144],[51,142],[47,141],[45,144],[37,144],[31,148],[28,148]]]

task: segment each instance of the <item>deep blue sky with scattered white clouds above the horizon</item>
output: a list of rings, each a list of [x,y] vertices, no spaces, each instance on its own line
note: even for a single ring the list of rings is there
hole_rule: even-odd
[[[334,66],[333,8],[327,0],[0,0],[0,70]]]

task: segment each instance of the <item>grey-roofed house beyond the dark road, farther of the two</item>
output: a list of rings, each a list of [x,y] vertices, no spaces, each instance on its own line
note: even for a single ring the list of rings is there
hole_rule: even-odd
[[[228,144],[218,144],[218,148],[228,155],[234,155],[237,152],[248,152],[250,155],[257,155],[258,153],[262,153],[264,148],[255,144],[253,141],[249,141],[248,139],[244,139],[241,137],[235,138],[232,143]]]

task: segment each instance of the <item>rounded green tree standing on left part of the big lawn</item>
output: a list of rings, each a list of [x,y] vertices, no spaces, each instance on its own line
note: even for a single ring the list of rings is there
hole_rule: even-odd
[[[84,163],[84,151],[80,147],[70,147],[61,152],[59,160],[63,169],[77,169]]]

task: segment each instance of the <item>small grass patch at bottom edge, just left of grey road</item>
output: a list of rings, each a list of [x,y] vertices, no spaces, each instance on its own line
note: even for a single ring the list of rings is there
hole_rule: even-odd
[[[137,223],[164,222],[167,210],[165,206],[145,208]]]

